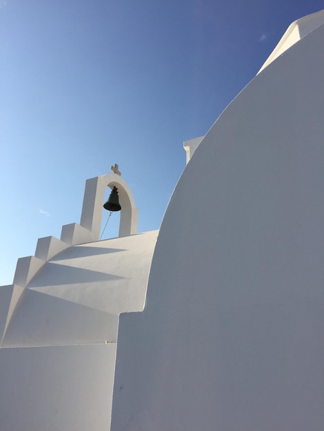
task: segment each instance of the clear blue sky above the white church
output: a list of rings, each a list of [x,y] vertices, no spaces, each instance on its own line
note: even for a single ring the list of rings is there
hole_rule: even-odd
[[[159,229],[185,167],[183,140],[210,129],[292,21],[323,8],[0,0],[0,285],[38,238],[80,221],[85,180],[116,162],[139,231]],[[117,218],[103,238],[117,235]]]

